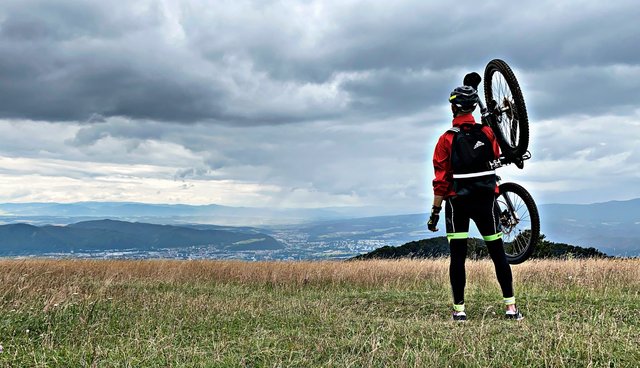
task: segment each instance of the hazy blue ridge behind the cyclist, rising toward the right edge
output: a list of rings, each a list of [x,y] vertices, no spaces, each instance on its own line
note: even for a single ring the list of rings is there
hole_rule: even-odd
[[[549,204],[538,206],[541,231],[557,244],[593,247],[614,256],[640,256],[640,199],[588,205]],[[430,236],[443,236],[440,230],[426,229],[428,214],[339,219],[296,225],[307,241],[385,242],[399,246]],[[472,236],[478,236],[471,226]],[[475,234],[474,234],[475,233]]]

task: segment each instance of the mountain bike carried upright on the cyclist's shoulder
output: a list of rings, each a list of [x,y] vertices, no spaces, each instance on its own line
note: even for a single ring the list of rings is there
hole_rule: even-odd
[[[479,83],[479,80],[467,81],[465,77],[465,85],[477,89]],[[502,152],[499,159],[488,164],[489,168],[495,170],[513,163],[523,169],[524,161],[531,158],[531,153],[527,150],[527,108],[520,84],[503,60],[494,59],[487,64],[484,71],[484,95],[486,106],[481,99],[479,101],[482,124],[492,129]],[[540,238],[540,216],[533,197],[524,187],[512,182],[500,183],[500,180],[498,177],[499,195],[496,204],[500,209],[505,253],[510,264],[519,264],[531,256]]]

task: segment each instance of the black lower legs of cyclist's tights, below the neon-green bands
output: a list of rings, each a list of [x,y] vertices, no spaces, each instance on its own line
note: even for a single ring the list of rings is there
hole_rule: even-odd
[[[502,289],[502,296],[510,298],[513,296],[513,277],[511,275],[511,266],[509,266],[504,253],[502,239],[488,241],[486,244],[491,260],[493,260],[498,283]],[[467,258],[467,239],[452,239],[449,247],[451,248],[449,277],[451,278],[453,303],[464,304],[464,287],[466,284],[464,262]]]

